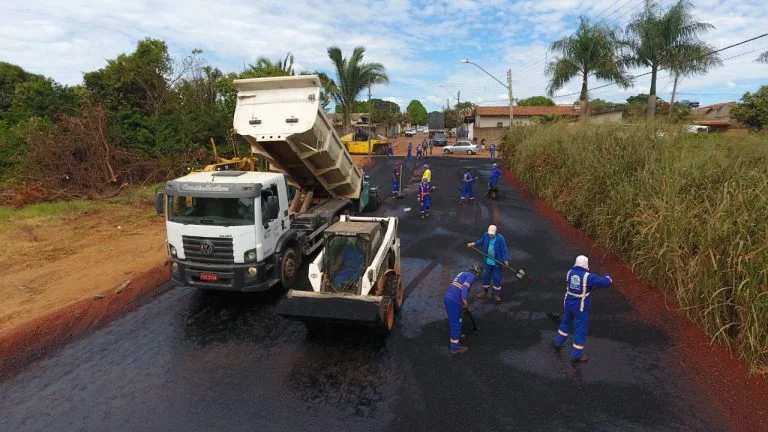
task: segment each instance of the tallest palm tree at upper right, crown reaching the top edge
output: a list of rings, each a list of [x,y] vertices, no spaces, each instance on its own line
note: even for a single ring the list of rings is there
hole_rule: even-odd
[[[714,28],[711,24],[698,22],[691,14],[693,5],[687,0],[678,0],[663,12],[659,4],[645,0],[643,10],[627,25],[630,40],[627,46],[631,53],[626,58],[628,66],[651,68],[651,90],[648,97],[648,119],[656,114],[656,80],[660,68],[675,63],[677,53],[692,58],[703,43],[698,35]]]

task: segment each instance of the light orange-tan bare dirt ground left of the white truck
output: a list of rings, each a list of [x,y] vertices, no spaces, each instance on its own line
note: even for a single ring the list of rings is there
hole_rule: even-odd
[[[166,259],[162,218],[130,206],[12,221],[0,241],[0,339],[21,323],[115,289]]]

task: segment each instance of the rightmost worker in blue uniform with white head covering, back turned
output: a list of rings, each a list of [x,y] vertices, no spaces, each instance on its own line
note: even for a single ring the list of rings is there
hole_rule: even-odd
[[[565,277],[564,312],[560,321],[560,328],[555,334],[553,346],[562,348],[571,330],[573,330],[571,362],[587,361],[587,356],[584,355],[584,344],[587,341],[592,289],[608,288],[612,283],[613,280],[608,273],[603,273],[602,276],[590,273],[589,259],[584,255],[576,257],[576,263],[568,270]]]

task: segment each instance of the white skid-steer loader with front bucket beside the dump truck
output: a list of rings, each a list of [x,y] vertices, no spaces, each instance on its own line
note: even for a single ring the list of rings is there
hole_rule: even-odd
[[[309,265],[312,291],[289,290],[276,312],[310,332],[336,322],[388,335],[404,296],[397,224],[395,217],[342,216]]]

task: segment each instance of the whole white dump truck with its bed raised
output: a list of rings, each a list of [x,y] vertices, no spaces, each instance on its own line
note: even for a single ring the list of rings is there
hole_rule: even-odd
[[[265,171],[192,172],[155,196],[165,216],[171,279],[180,286],[291,288],[302,263],[344,214],[378,206],[320,107],[317,75],[235,80],[233,126]]]

